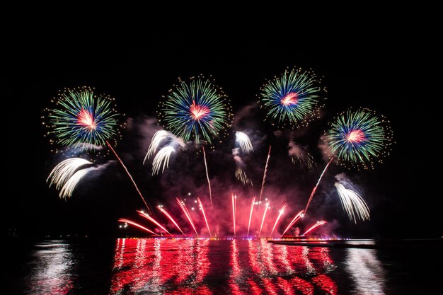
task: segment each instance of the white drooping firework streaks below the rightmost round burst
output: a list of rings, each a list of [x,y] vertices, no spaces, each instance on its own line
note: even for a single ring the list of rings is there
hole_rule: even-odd
[[[367,207],[366,202],[357,192],[345,188],[341,183],[335,183],[335,187],[337,188],[343,210],[345,210],[349,219],[353,219],[355,224],[357,224],[355,215],[362,219],[362,221],[369,220],[369,207]]]

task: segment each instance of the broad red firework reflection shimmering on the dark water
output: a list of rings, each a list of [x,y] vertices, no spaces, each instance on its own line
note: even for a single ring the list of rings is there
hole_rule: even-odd
[[[220,256],[220,250],[229,253]],[[229,263],[220,262],[226,258]],[[333,270],[327,267],[333,261],[325,248],[265,240],[119,239],[114,260],[111,294],[313,295],[313,285],[318,291],[337,293],[335,282],[325,274]],[[222,267],[217,277],[210,260]]]

